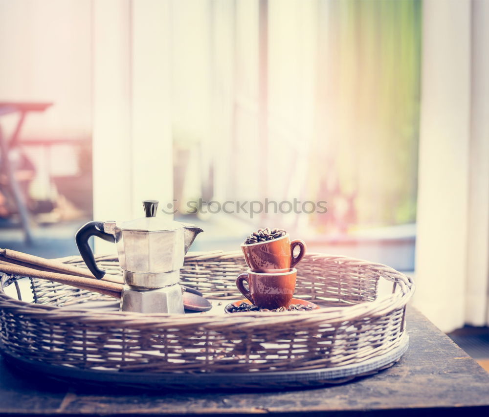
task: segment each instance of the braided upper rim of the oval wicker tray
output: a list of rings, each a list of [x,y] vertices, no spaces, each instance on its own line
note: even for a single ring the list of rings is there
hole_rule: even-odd
[[[208,259],[210,256],[213,258],[220,258],[221,260],[232,260],[236,257],[241,257],[241,250],[236,251],[209,251],[209,252],[189,252],[185,256],[185,260],[196,261],[200,258]],[[344,322],[349,320],[356,320],[362,317],[378,317],[389,312],[403,307],[407,304],[413,295],[415,285],[411,278],[407,277],[403,273],[395,270],[394,268],[384,265],[382,263],[373,263],[370,261],[350,258],[343,255],[330,255],[319,252],[309,252],[304,258],[314,259],[328,258],[329,260],[337,260],[338,262],[345,261],[349,265],[367,266],[372,270],[378,270],[383,278],[386,276],[395,277],[395,282],[399,284],[400,291],[397,291],[384,298],[364,302],[351,306],[332,306],[321,307],[317,310],[307,312],[307,318],[304,312],[285,311],[277,314],[275,312],[262,312],[253,311],[249,313],[239,314],[223,314],[223,313],[193,313],[193,314],[168,314],[168,313],[135,313],[135,312],[123,312],[123,311],[94,311],[89,308],[67,308],[67,307],[55,307],[49,305],[32,304],[25,301],[15,300],[4,292],[4,283],[9,274],[3,274],[1,276],[0,284],[0,308],[15,309],[17,313],[23,316],[36,316],[38,319],[43,319],[49,322],[67,322],[76,321],[84,323],[86,325],[96,325],[100,322],[111,321],[124,325],[127,328],[141,328],[141,326],[150,327],[185,327],[185,326],[201,326],[208,329],[218,329],[227,324],[234,324],[235,322],[241,323],[241,328],[253,328],[256,326],[267,325],[286,325],[304,323],[306,320],[311,324],[314,322],[322,324],[333,324],[337,322]],[[116,261],[116,255],[99,255],[96,257],[98,261]],[[81,257],[71,256],[58,258],[58,261],[75,263],[80,262]],[[326,302],[325,302],[326,303]],[[169,319],[169,320],[163,320]]]

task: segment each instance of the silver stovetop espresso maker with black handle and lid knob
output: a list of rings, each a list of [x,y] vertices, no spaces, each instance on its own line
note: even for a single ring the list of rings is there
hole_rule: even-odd
[[[180,268],[190,245],[202,232],[200,227],[156,217],[158,201],[143,201],[146,217],[125,221],[89,221],[76,232],[80,255],[95,278],[98,268],[89,247],[97,236],[115,242],[124,272],[121,311],[183,313]]]

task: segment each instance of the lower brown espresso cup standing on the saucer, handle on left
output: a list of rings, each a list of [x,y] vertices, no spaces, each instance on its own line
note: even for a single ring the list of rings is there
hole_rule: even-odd
[[[295,291],[297,269],[291,268],[287,272],[263,273],[247,272],[236,278],[236,286],[240,292],[253,305],[262,308],[289,307],[290,300]],[[244,287],[248,283],[249,290]]]

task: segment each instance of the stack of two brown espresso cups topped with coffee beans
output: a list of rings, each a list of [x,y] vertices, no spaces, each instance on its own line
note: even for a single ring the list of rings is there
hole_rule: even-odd
[[[254,234],[265,232],[267,235],[267,230],[259,229]],[[297,270],[294,266],[306,253],[306,243],[299,239],[290,241],[289,234],[285,233],[278,238],[257,240],[257,243],[247,243],[250,241],[247,239],[241,245],[249,269],[238,276],[236,286],[255,306],[288,308],[295,291]],[[294,256],[296,247],[299,247],[299,253]],[[249,289],[244,287],[244,282]]]

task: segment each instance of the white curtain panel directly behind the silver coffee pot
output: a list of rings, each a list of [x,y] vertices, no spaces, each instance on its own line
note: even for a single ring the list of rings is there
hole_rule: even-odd
[[[173,198],[170,11],[168,1],[93,2],[96,220],[137,218],[142,200]],[[95,250],[115,245],[96,239]]]

